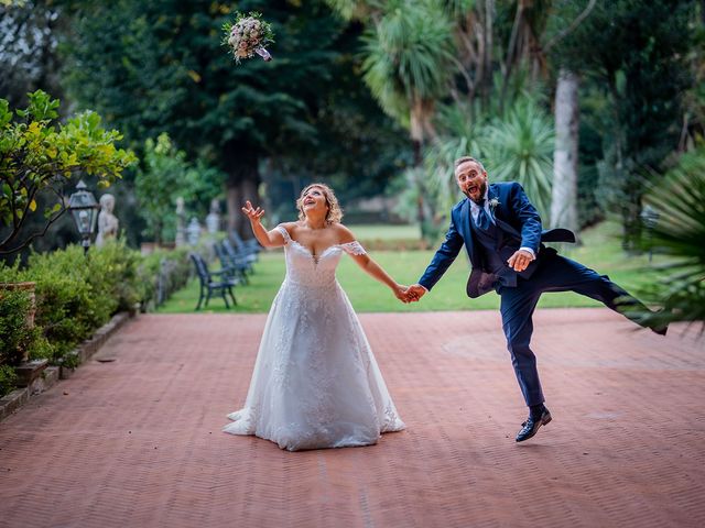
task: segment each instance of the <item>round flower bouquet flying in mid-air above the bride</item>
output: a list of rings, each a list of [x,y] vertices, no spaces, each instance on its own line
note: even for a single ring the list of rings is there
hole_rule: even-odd
[[[274,42],[274,32],[272,26],[262,20],[261,13],[236,13],[235,23],[225,23],[223,31],[223,44],[230,47],[236,63],[239,64],[242,58],[251,58],[254,54],[264,61],[272,59],[264,46]]]

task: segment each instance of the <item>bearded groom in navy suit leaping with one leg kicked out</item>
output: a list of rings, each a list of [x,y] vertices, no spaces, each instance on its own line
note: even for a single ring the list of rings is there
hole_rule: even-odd
[[[507,346],[529,407],[529,418],[517,435],[517,441],[522,442],[551,421],[551,413],[543,405],[536,359],[530,348],[531,317],[541,294],[586,295],[630,319],[631,312],[634,322],[638,322],[637,312],[648,308],[606,275],[598,275],[545,248],[542,242],[575,242],[575,235],[566,229],[542,231],[541,218],[518,183],[488,185],[485,167],[473,157],[456,160],[455,179],[467,199],[453,208],[445,242],[419,284],[409,287],[406,298],[420,300],[465,246],[473,267],[467,282],[468,297],[479,297],[494,289],[501,298]],[[666,327],[652,330],[665,336]]]

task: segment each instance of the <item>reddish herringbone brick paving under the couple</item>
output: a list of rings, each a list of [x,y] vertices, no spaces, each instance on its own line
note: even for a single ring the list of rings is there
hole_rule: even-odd
[[[364,315],[409,429],[290,453],[220,432],[263,316],[142,316],[0,424],[2,527],[705,526],[705,350],[543,310],[554,421],[524,418],[496,312]]]

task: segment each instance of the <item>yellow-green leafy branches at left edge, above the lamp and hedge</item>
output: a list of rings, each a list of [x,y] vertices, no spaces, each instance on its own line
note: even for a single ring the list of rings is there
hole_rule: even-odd
[[[74,173],[95,175],[99,185],[108,186],[135,162],[132,153],[116,147],[119,132],[102,129],[97,113],[83,112],[58,123],[57,99],[41,90],[29,98],[26,109],[14,112],[0,99],[0,219],[7,226],[0,230],[0,255],[36,238],[18,240],[26,217],[37,209],[39,193],[48,189],[56,195],[41,211],[48,228],[66,210],[64,185]]]

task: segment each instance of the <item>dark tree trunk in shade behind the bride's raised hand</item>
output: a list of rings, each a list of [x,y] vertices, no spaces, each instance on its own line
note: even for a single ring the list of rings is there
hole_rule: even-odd
[[[228,232],[237,231],[240,237],[251,239],[252,230],[240,208],[246,200],[260,205],[259,156],[254,148],[231,143],[226,147],[226,202],[228,207]]]

